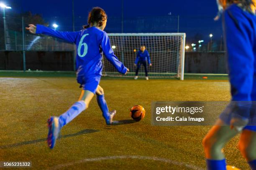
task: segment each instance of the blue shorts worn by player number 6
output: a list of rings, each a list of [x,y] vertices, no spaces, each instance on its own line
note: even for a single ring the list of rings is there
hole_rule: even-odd
[[[77,76],[77,82],[83,90],[89,90],[95,94],[98,85],[100,84],[101,75],[79,75]]]

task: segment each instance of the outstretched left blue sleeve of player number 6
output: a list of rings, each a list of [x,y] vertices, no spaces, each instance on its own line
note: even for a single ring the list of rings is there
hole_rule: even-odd
[[[77,36],[79,35],[81,31],[77,32],[60,32],[56,31],[54,29],[45,27],[44,25],[36,25],[36,34],[45,34],[45,35],[50,35],[51,37],[57,37],[61,38],[63,40],[67,40],[68,42],[75,43]]]

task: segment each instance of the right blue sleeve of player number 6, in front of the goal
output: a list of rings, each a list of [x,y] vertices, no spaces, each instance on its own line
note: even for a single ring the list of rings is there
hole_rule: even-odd
[[[115,69],[118,70],[118,72],[125,74],[127,72],[127,68],[115,56],[114,51],[110,46],[110,40],[106,32],[104,32],[103,34],[101,47],[105,54],[105,57],[115,67]]]

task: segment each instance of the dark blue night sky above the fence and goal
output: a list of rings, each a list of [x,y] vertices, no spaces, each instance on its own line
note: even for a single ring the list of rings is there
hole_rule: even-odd
[[[31,11],[32,14],[40,14],[50,26],[57,23],[58,30],[72,30],[72,0],[3,2],[12,7],[6,10],[7,16]],[[102,7],[108,14],[106,31],[120,33],[122,0],[74,0],[75,30],[80,30],[87,23],[87,15],[95,6]],[[213,20],[217,12],[215,0],[123,0],[123,32],[177,32],[179,16],[179,32],[187,33],[188,43],[202,39],[207,43],[210,33],[218,41],[222,30],[221,21]]]

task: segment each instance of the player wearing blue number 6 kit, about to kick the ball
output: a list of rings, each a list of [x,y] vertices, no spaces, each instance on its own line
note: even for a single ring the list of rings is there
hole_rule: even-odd
[[[97,95],[97,102],[102,110],[106,124],[111,125],[116,111],[108,111],[107,103],[104,99],[104,92],[100,87],[102,75],[102,55],[104,52],[108,61],[111,62],[122,74],[127,74],[129,69],[121,63],[114,55],[110,46],[110,40],[104,30],[107,24],[107,15],[100,7],[94,7],[88,16],[88,25],[84,30],[77,32],[59,32],[43,25],[29,25],[26,28],[32,33],[46,34],[58,37],[77,45],[77,82],[83,87],[78,102],[59,117],[51,116],[48,120],[49,133],[47,138],[48,146],[52,149],[58,138],[61,128],[77,117],[83,110],[87,109],[92,97]]]

